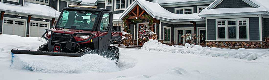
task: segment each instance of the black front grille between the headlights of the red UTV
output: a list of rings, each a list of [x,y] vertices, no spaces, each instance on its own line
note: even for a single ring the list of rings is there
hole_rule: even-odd
[[[59,42],[68,42],[71,39],[71,34],[61,34],[61,33],[53,33],[52,34],[52,41],[59,41]],[[72,38],[72,42],[76,42],[75,38]]]

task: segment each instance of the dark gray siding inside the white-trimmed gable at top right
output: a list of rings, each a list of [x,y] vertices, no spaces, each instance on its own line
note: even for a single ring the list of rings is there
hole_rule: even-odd
[[[223,0],[218,6],[215,7],[215,9],[232,8],[232,7],[251,7],[251,6],[242,0]]]

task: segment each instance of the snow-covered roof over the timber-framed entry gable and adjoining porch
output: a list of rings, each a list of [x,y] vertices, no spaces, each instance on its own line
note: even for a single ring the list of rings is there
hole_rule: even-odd
[[[122,15],[119,17],[123,19],[136,5],[139,5],[142,9],[144,9],[150,16],[160,20],[166,21],[176,21],[183,19],[203,19],[198,16],[198,14],[175,14],[161,7],[158,3],[153,3],[145,0],[136,0],[134,1],[125,11],[123,11]]]

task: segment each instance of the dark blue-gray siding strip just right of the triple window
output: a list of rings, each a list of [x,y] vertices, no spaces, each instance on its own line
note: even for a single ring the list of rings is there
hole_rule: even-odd
[[[249,40],[260,40],[259,17],[249,18]]]

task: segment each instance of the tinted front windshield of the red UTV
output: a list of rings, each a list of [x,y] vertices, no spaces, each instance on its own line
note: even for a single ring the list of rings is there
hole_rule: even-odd
[[[92,30],[98,12],[64,10],[56,27]]]

